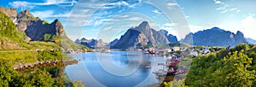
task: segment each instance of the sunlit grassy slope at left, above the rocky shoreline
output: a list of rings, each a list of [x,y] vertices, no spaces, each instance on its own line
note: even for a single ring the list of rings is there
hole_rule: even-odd
[[[15,65],[67,58],[67,55],[61,53],[61,46],[58,44],[42,41],[26,42],[24,38],[26,38],[25,33],[18,31],[12,20],[0,12],[0,51],[2,51],[0,60]],[[36,49],[44,51],[36,51]],[[50,51],[52,49],[56,51]]]

